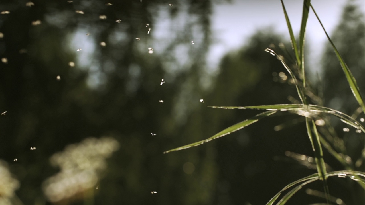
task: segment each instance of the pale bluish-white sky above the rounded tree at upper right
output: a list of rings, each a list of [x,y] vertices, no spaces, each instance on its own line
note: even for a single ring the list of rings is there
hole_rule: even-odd
[[[365,11],[365,1],[354,2],[360,6],[361,11]],[[312,0],[311,3],[331,36],[341,19],[342,9],[347,0]],[[284,4],[293,32],[297,35],[300,30],[303,1],[284,0]],[[231,3],[215,4],[211,20],[215,39],[208,55],[211,67],[218,67],[219,59],[227,51],[243,46],[247,38],[259,29],[273,26],[275,31],[289,40],[280,0],[231,0]],[[315,65],[320,60],[327,38],[312,11],[309,13],[306,31],[306,44],[309,45],[310,51],[308,64],[318,71],[320,66]],[[265,54],[264,51],[262,53]]]

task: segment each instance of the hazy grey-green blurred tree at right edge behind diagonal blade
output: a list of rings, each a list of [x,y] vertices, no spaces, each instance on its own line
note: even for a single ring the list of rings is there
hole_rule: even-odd
[[[355,78],[358,79],[360,91],[363,92],[365,82],[361,81],[359,77],[365,74],[365,23],[363,13],[354,1],[348,1],[345,5],[341,21],[331,39]],[[358,107],[358,103],[348,86],[330,43],[326,45],[322,64],[324,104],[345,113],[353,113]]]

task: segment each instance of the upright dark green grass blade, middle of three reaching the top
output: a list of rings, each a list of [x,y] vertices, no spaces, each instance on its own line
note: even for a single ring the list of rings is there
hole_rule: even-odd
[[[304,41],[306,40],[306,26],[308,20],[309,6],[311,4],[311,0],[304,0],[303,2],[303,14],[301,17],[301,26],[299,33],[299,52],[300,52],[300,68],[301,75],[303,79],[303,87],[306,87],[306,75],[304,69]]]

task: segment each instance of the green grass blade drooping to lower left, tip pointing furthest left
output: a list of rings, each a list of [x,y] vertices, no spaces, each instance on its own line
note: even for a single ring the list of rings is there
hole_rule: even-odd
[[[232,125],[231,127],[228,127],[226,129],[223,129],[222,131],[218,132],[217,134],[211,136],[210,138],[208,139],[205,139],[205,140],[200,140],[199,142],[195,142],[195,143],[191,143],[191,144],[187,144],[185,146],[182,146],[182,147],[178,147],[178,148],[175,148],[175,149],[172,149],[172,150],[168,150],[168,151],[165,151],[165,153],[168,153],[168,152],[172,152],[172,151],[178,151],[178,150],[184,150],[184,149],[187,149],[187,148],[190,148],[190,147],[195,147],[195,146],[199,146],[200,144],[203,144],[205,142],[209,142],[211,140],[214,140],[214,139],[217,139],[217,138],[220,138],[224,135],[228,135],[232,132],[235,132],[239,129],[242,129],[244,127],[247,127],[248,125],[252,124],[252,123],[255,123],[257,122],[258,120],[261,120],[262,118],[264,117],[267,117],[269,115],[272,115],[274,113],[276,113],[277,111],[266,111],[266,112],[263,112],[263,113],[260,113],[258,115],[255,115],[247,120],[243,120],[242,122],[239,122],[237,124],[234,124]]]

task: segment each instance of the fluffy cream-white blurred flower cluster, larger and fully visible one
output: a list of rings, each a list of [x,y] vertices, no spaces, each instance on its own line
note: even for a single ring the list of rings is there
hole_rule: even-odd
[[[54,154],[51,164],[61,171],[43,183],[45,195],[51,202],[58,202],[93,189],[106,168],[105,159],[118,149],[114,138],[87,138]]]

